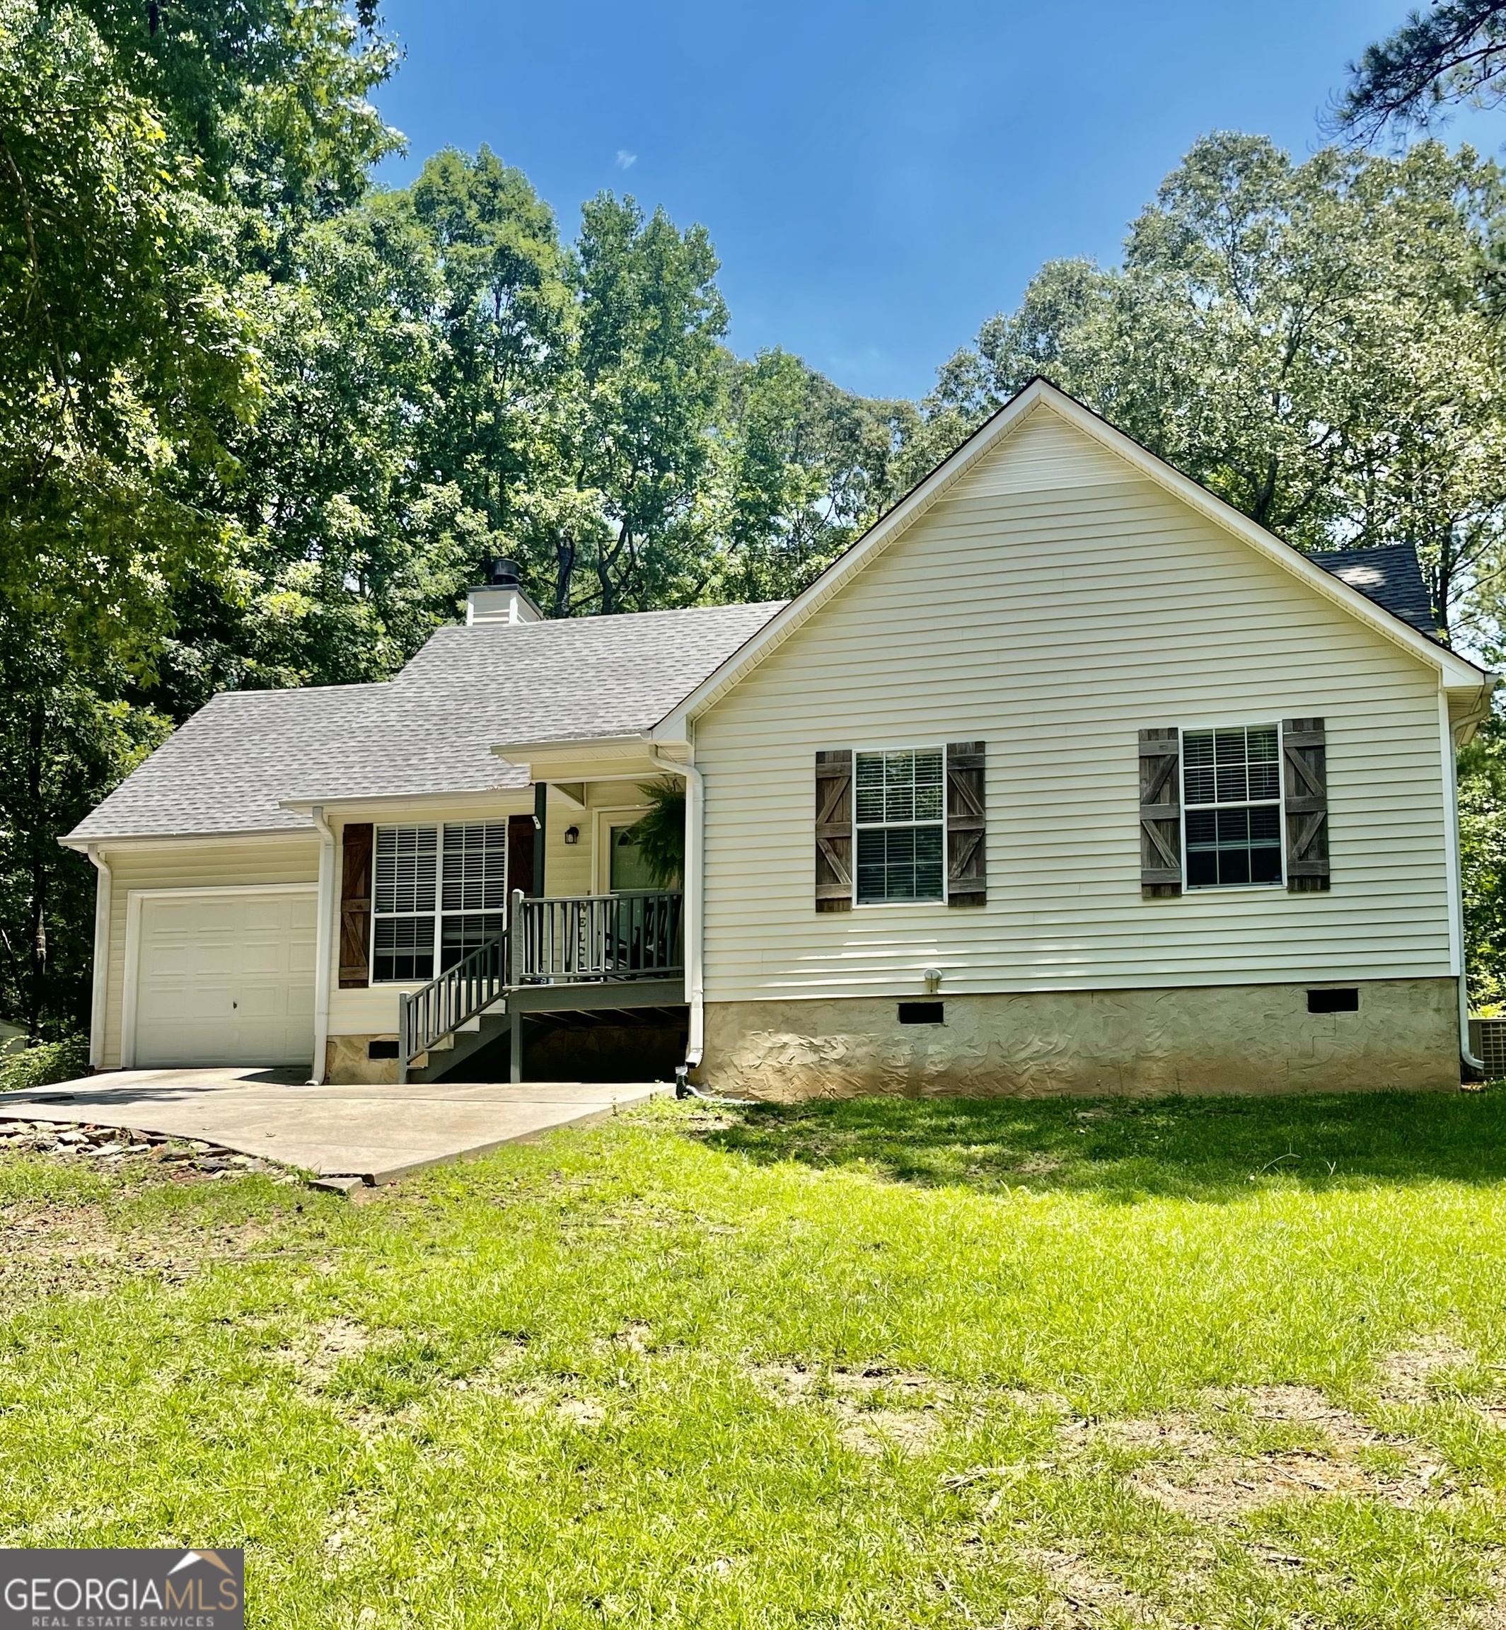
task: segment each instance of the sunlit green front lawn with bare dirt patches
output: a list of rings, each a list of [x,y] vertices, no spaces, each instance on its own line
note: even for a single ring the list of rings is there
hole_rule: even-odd
[[[1506,1090],[0,1157],[0,1544],[258,1625],[1506,1625]]]

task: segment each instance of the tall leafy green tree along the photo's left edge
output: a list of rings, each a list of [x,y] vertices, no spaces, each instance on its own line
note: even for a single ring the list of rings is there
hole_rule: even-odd
[[[86,1001],[93,874],[57,836],[158,738],[181,610],[240,569],[248,256],[385,140],[381,49],[336,7],[161,10],[0,0],[0,1001],[33,1035]]]

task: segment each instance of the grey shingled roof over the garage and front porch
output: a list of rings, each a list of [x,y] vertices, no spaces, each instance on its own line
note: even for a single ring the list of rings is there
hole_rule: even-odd
[[[383,685],[225,691],[65,841],[308,831],[284,802],[522,789],[494,743],[647,732],[782,603],[440,628]]]

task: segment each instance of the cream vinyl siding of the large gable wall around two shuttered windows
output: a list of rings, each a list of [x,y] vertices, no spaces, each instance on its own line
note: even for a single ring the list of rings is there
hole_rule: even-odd
[[[1138,732],[1323,717],[1332,893],[1139,892]],[[988,905],[817,913],[813,758],[983,740]],[[696,722],[706,994],[1449,975],[1438,676],[1038,408]]]

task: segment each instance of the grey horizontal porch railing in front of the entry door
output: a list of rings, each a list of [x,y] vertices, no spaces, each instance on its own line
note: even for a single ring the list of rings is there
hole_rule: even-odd
[[[685,967],[685,896],[657,890],[512,896],[515,985],[662,980]]]

